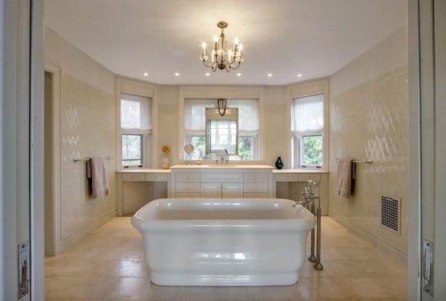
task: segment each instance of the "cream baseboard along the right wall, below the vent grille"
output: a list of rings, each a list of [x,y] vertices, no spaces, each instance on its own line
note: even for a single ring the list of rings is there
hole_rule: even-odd
[[[348,230],[355,233],[355,235],[369,242],[371,245],[373,245],[386,255],[391,256],[392,258],[396,258],[397,260],[403,263],[407,263],[407,254],[401,252],[399,249],[395,249],[384,240],[381,240],[380,238],[375,236],[374,233],[371,233],[364,229],[357,229],[356,227],[351,226],[348,218],[342,215],[341,213],[338,213],[337,211],[334,211],[331,208],[329,208],[328,216],[334,219],[334,221],[338,222],[342,226],[346,227]]]

